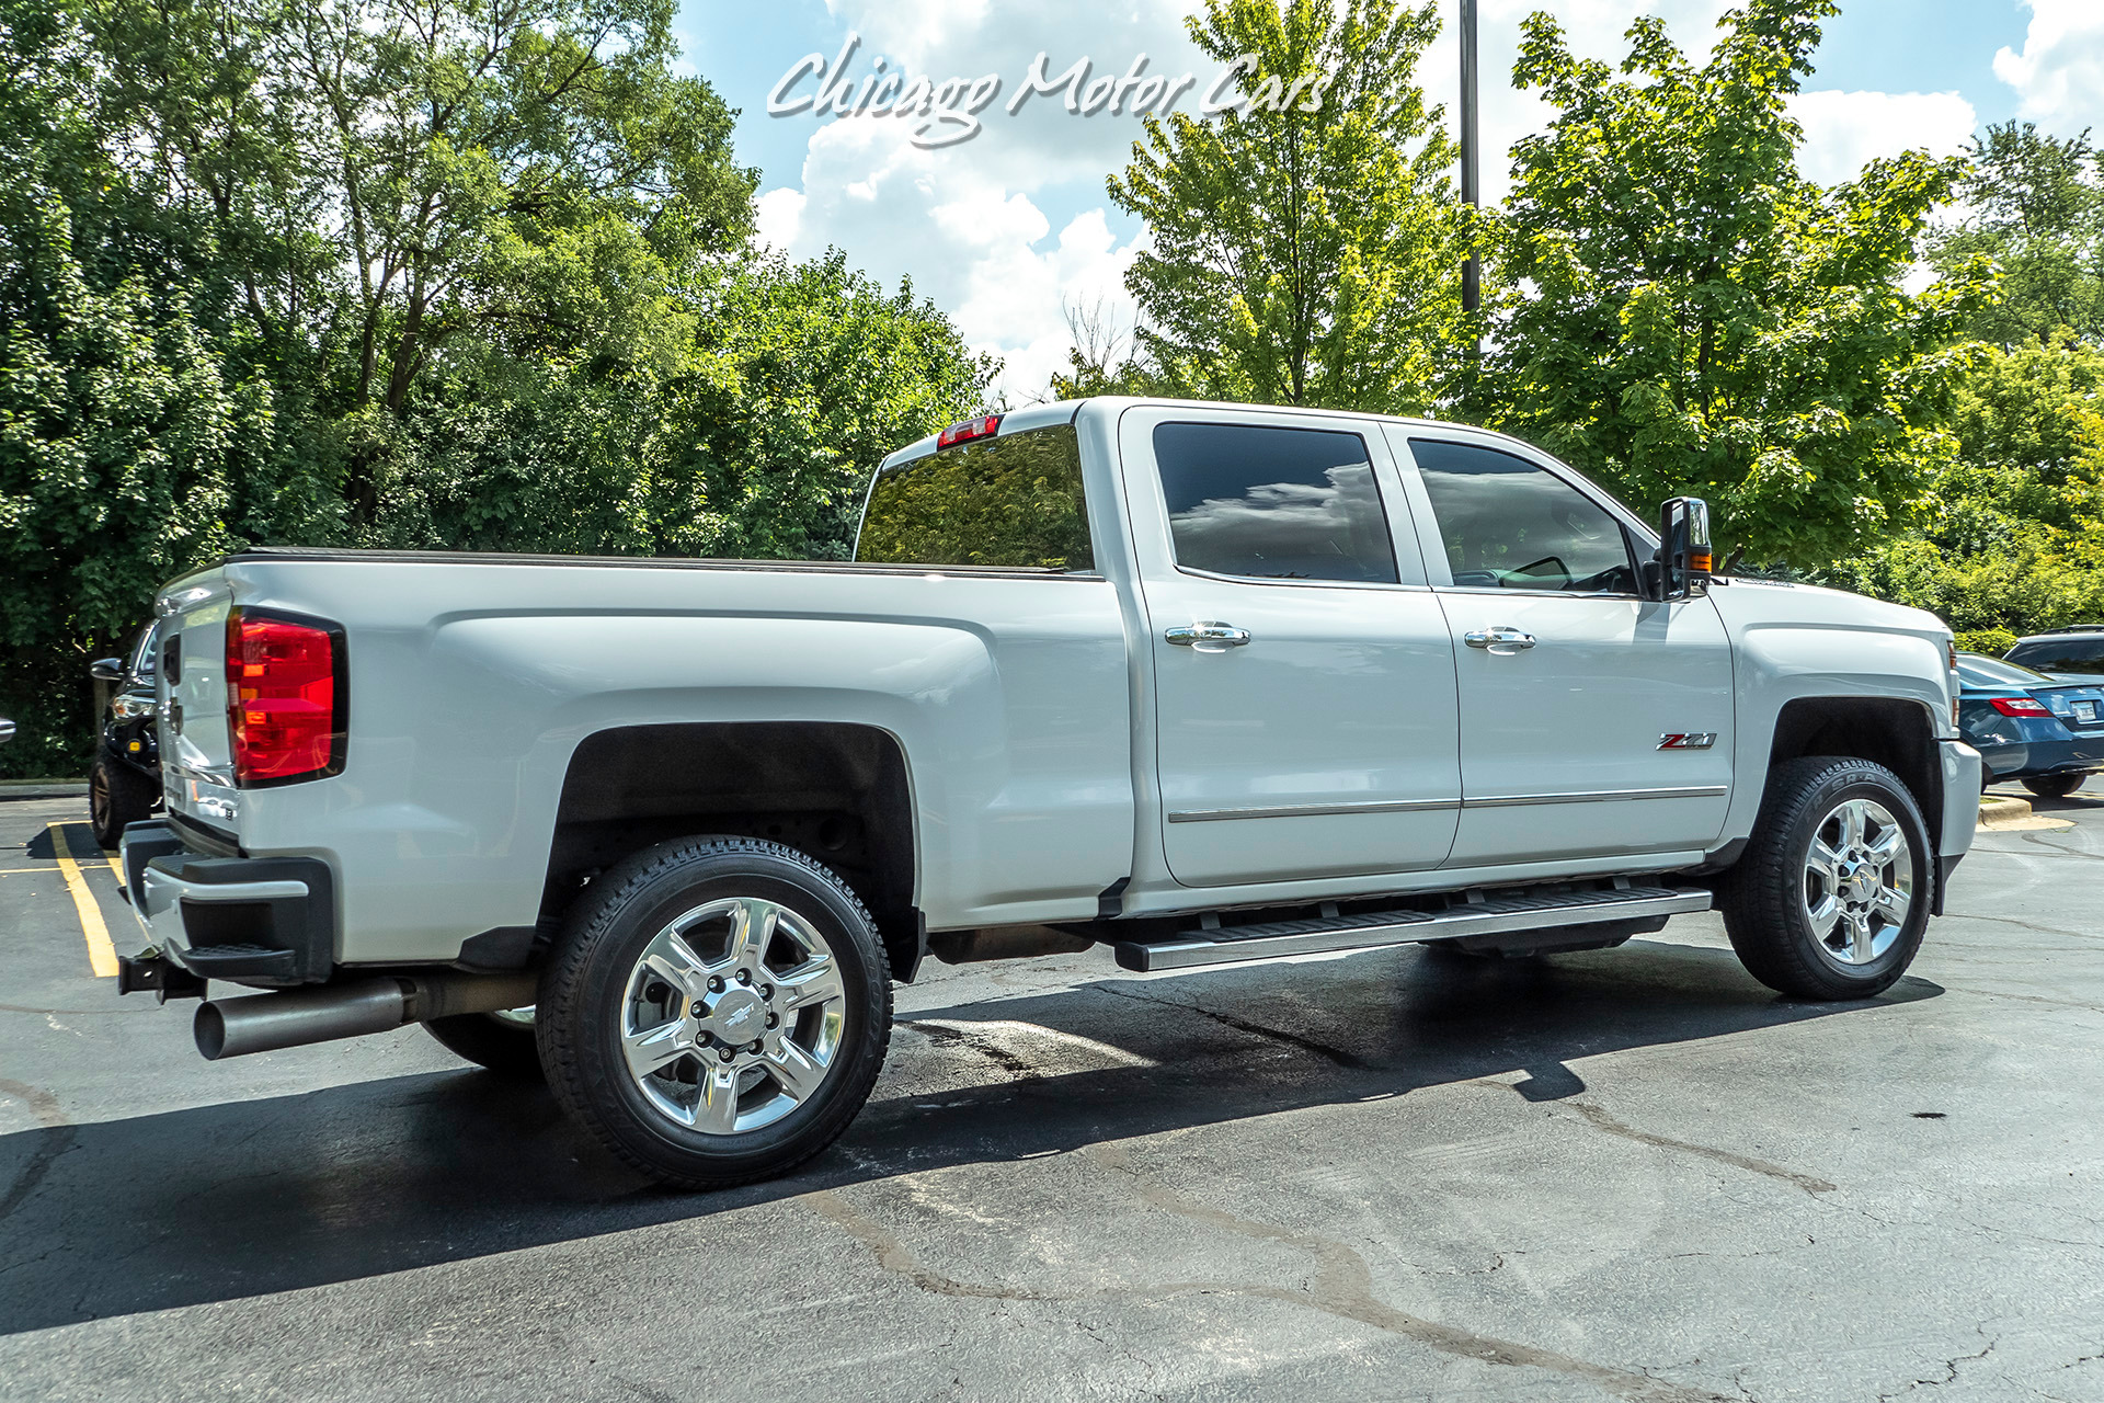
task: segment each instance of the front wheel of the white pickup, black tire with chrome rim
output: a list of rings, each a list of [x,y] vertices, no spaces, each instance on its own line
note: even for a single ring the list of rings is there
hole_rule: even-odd
[[[1885,766],[1812,755],[1767,772],[1753,841],[1719,886],[1753,978],[1799,999],[1868,999],[1906,974],[1936,865],[1915,797]]]

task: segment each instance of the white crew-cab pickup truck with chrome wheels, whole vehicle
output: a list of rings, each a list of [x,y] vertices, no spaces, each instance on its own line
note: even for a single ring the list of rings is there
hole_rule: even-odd
[[[252,549],[168,585],[124,989],[208,1058],[425,1022],[616,1155],[818,1153],[924,955],[1913,961],[1980,757],[1940,621],[1711,574],[1498,433],[1088,400],[884,461],[852,564]],[[1292,978],[1279,968],[1279,978]]]

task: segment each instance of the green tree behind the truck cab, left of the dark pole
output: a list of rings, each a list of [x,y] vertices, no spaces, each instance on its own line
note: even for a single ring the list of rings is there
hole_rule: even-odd
[[[1197,46],[1239,74],[1218,120],[1147,120],[1111,177],[1153,246],[1126,286],[1170,391],[1269,404],[1422,410],[1464,341],[1469,221],[1456,147],[1416,65],[1435,4],[1208,0]]]

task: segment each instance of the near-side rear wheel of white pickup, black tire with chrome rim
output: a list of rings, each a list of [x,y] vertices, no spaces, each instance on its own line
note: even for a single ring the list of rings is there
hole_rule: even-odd
[[[892,978],[827,867],[749,837],[661,843],[591,883],[541,974],[549,1087],[680,1188],[783,1174],[848,1127],[892,1037]]]

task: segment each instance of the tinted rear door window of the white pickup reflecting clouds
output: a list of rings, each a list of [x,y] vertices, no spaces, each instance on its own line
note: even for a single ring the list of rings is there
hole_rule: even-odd
[[[1153,448],[1178,566],[1258,581],[1399,583],[1357,433],[1166,423],[1155,425]]]

